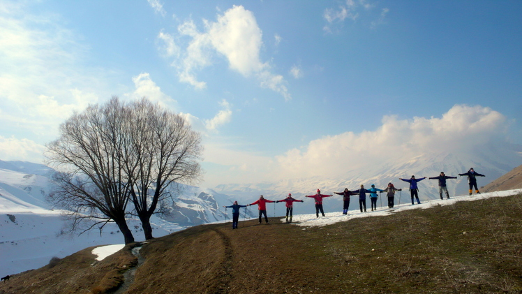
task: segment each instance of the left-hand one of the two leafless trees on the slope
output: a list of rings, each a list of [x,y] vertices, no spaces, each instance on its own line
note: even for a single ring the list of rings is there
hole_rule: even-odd
[[[73,230],[87,219],[96,221],[89,228],[99,225],[100,230],[114,221],[125,244],[134,242],[126,223],[131,185],[122,153],[128,128],[128,110],[113,97],[101,107],[75,112],[61,124],[60,137],[47,144],[46,153],[48,163],[60,170],[47,199],[71,212]]]

